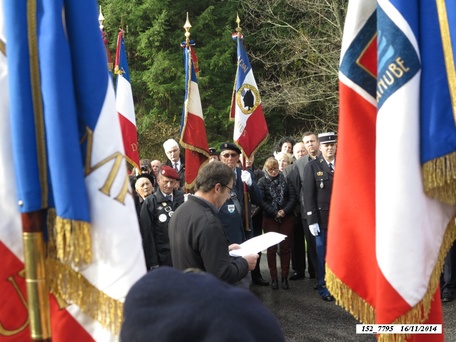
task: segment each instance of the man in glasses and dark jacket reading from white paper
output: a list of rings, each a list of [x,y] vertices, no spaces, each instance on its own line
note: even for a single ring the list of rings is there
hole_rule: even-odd
[[[228,241],[217,212],[230,197],[233,177],[221,162],[204,165],[195,180],[195,194],[188,196],[169,222],[169,240],[175,268],[197,268],[238,285],[255,268],[258,254],[238,258],[229,254],[239,245]]]

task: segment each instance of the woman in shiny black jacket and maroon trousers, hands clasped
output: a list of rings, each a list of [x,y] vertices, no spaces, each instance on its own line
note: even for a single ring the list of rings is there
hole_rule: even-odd
[[[287,183],[285,176],[279,172],[279,163],[273,157],[264,163],[264,177],[258,181],[263,193],[261,208],[263,209],[263,229],[287,235],[280,245],[280,266],[282,288],[289,289],[288,272],[290,270],[291,234],[295,216],[293,209],[296,204],[294,187]],[[277,245],[268,248],[268,267],[271,274],[271,287],[279,288],[277,276]]]

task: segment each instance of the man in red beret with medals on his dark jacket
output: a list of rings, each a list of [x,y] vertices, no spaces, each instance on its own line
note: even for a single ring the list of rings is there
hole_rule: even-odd
[[[147,270],[172,266],[168,223],[174,211],[184,202],[184,193],[176,190],[179,174],[170,166],[161,166],[158,189],[146,198],[141,208],[139,226]]]

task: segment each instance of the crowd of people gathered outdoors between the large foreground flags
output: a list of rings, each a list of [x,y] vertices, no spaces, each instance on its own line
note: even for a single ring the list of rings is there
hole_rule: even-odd
[[[289,281],[309,277],[315,279],[314,289],[323,301],[334,300],[326,288],[325,255],[335,133],[305,132],[299,142],[284,137],[261,167],[254,166],[254,155],[243,158],[234,143],[222,143],[218,151],[211,147],[209,163],[201,168],[190,193],[182,188],[185,159],[179,144],[169,139],[163,148],[166,162],[142,159],[131,176],[146,277],[157,272],[154,269],[173,267],[176,272],[210,274],[236,288],[254,284],[272,290],[288,290]],[[286,235],[267,248],[271,282],[262,276],[261,252],[230,255],[246,240],[267,232]],[[456,298],[451,272],[455,250],[448,254],[442,274],[443,302]],[[262,310],[267,313],[265,307]]]

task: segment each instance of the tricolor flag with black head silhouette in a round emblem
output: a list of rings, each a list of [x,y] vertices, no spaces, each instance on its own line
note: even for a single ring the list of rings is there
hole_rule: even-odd
[[[232,35],[237,42],[237,71],[234,81],[230,119],[234,120],[233,141],[247,158],[266,141],[268,126],[261,105],[260,93],[253,76],[241,33]]]

